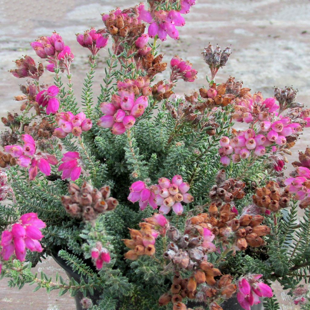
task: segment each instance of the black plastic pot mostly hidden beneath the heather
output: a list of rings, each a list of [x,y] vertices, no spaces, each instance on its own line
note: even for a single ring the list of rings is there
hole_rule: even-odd
[[[71,267],[67,266],[66,261],[57,255],[58,251],[55,250],[53,252],[54,253],[51,254],[52,258],[55,260],[56,263],[58,263],[58,265],[61,268],[64,269],[69,279],[73,278],[74,280],[79,282],[81,280],[81,276],[78,273],[74,272]],[[84,278],[84,281],[87,280]],[[86,297],[90,298],[93,304],[96,304],[100,298],[100,293],[94,290],[94,295],[87,295]],[[81,304],[82,298],[83,294],[81,292],[78,292],[78,294],[74,296],[75,306],[77,310],[83,310]],[[189,300],[187,306],[188,308],[195,308],[195,307],[203,308],[204,304]],[[232,297],[226,300],[224,303],[221,304],[221,307],[223,308],[223,310],[243,310],[243,308],[239,305],[237,301],[237,297]],[[251,307],[251,310],[263,310],[263,304],[259,303],[258,305],[253,305]]]

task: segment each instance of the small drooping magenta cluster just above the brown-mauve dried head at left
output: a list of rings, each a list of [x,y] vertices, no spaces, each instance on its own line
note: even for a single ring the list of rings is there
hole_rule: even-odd
[[[67,152],[62,157],[63,162],[58,167],[58,171],[62,171],[62,179],[77,180],[81,175],[80,154],[78,152]]]

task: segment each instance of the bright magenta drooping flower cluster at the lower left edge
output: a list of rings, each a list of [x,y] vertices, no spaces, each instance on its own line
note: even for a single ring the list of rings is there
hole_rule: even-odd
[[[42,252],[40,240],[44,237],[41,229],[45,223],[38,219],[36,213],[26,213],[11,226],[10,230],[4,230],[1,235],[2,259],[9,260],[15,252],[16,259],[23,262],[26,249],[31,252]]]

